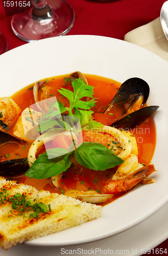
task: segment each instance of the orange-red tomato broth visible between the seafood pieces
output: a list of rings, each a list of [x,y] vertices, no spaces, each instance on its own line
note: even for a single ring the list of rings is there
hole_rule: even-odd
[[[94,106],[92,110],[96,114],[101,114],[113,99],[120,87],[120,83],[115,80],[96,75],[85,76],[90,86],[94,87],[94,97],[97,98],[96,106]],[[69,101],[67,98],[63,97],[57,91],[59,88],[64,87],[66,87],[68,90],[73,90],[71,83],[66,79],[64,80],[65,77],[69,77],[69,75],[46,78],[43,79],[43,81],[45,81],[46,85],[46,98],[56,96],[59,101],[64,103],[65,106],[68,106]],[[33,85],[34,84],[30,84],[26,88],[11,96],[11,98],[19,105],[21,112],[35,103],[32,90]],[[115,113],[116,118],[118,118],[120,115],[122,115],[121,110],[119,110],[118,113]],[[112,115],[109,115],[109,117],[110,116]],[[12,134],[13,126],[14,124],[8,131],[10,134]],[[148,121],[142,123],[135,129],[130,130],[130,132],[137,140],[139,162],[149,165],[156,145],[156,129],[153,118],[150,117]],[[6,143],[5,145],[2,145],[0,147],[0,162],[14,158],[27,158],[30,145],[31,142],[27,143],[26,145],[20,145],[17,143]],[[41,152],[43,152],[43,149]],[[64,192],[69,189],[78,189],[82,191],[93,189],[101,193],[103,183],[112,177],[115,171],[116,167],[104,171],[96,171],[90,170],[86,167],[80,166],[78,163],[75,163],[73,168],[69,168],[66,172],[62,173],[58,181],[59,188],[53,186],[51,178],[37,180],[34,178],[29,178],[23,174],[13,177],[13,180],[17,180],[18,183],[23,182],[27,185],[32,185],[37,189],[50,190],[51,192],[56,192],[58,194],[64,194]]]

